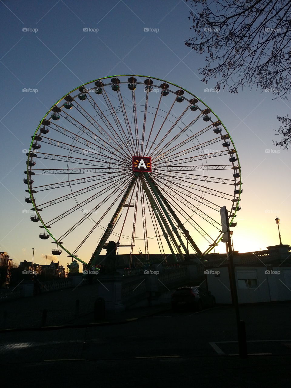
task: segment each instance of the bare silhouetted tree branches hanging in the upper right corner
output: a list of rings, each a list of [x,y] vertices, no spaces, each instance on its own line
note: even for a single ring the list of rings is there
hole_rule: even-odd
[[[291,3],[287,0],[186,0],[194,7],[189,19],[194,36],[185,42],[208,64],[200,68],[207,83],[217,79],[216,90],[237,93],[256,85],[275,99],[286,98],[291,87]],[[288,149],[290,119],[277,131],[276,145]]]

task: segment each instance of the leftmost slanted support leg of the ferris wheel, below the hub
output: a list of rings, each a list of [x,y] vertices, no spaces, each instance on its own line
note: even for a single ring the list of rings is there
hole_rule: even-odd
[[[118,208],[116,209],[113,217],[111,218],[103,236],[101,237],[98,245],[97,245],[97,248],[95,249],[88,265],[87,265],[87,268],[90,269],[91,267],[94,267],[96,265],[96,262],[97,262],[97,259],[104,247],[104,244],[107,240],[107,238],[110,236],[112,230],[114,229],[114,226],[118,220],[118,214],[120,213],[121,209],[123,208],[123,205],[125,204],[126,202],[126,199],[128,198],[129,194],[130,194],[130,191],[132,190],[133,188],[133,185],[135,184],[136,180],[137,180],[137,177],[138,177],[138,173],[136,173],[134,175],[134,177],[132,178],[132,180],[130,181],[130,184],[128,185],[128,188],[126,189],[125,193],[123,194],[123,197],[121,198],[121,201],[118,205]]]

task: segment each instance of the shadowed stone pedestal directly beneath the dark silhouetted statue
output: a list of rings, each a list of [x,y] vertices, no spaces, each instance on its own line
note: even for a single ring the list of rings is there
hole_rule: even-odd
[[[125,310],[121,299],[123,277],[115,272],[112,275],[99,275],[98,280],[97,294],[98,298],[103,298],[105,300],[105,310]]]

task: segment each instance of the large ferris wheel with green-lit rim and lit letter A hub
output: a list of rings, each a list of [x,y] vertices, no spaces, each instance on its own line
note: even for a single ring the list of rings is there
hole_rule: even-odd
[[[32,135],[24,183],[43,240],[96,266],[108,241],[122,253],[197,258],[241,209],[241,166],[218,116],[159,78],[123,74],[71,90]],[[93,253],[92,253],[93,252]]]

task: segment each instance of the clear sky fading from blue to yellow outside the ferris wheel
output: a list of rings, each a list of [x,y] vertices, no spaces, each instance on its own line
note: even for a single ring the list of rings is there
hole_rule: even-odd
[[[214,87],[215,80],[207,86],[201,82],[198,68],[204,57],[184,45],[192,34],[189,3],[4,1],[0,9],[1,251],[16,262],[31,259],[31,248],[35,248],[35,262],[43,263],[43,256],[50,255],[52,244],[39,239],[38,225],[23,214],[28,206],[22,150],[29,148],[39,121],[64,94],[115,74],[169,80],[199,96],[222,119],[242,166],[242,210],[234,229],[235,249],[243,252],[278,244],[277,216],[282,242],[290,242],[290,151],[276,149],[272,142],[277,139],[276,117],[287,114],[290,104],[273,101],[271,93],[255,88],[236,95],[204,92]],[[23,92],[24,88],[37,92]],[[62,265],[67,259],[59,256]]]

